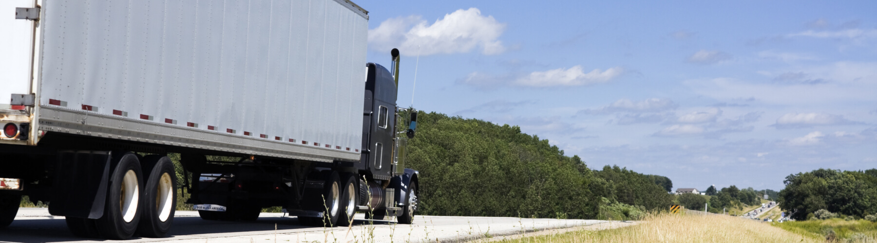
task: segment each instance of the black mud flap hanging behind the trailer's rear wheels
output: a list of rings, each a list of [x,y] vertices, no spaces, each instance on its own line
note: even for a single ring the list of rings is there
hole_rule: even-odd
[[[108,151],[59,152],[49,213],[88,219],[103,217],[110,160]]]

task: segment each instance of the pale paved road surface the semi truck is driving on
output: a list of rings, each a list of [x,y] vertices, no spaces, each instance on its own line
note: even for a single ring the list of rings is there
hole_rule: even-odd
[[[498,217],[416,216],[412,225],[366,220],[361,213],[350,227],[299,226],[296,217],[263,212],[255,222],[203,220],[197,212],[176,212],[167,238],[125,242],[457,242],[551,228],[607,223],[592,219],[519,219]],[[276,226],[276,230],[275,230]],[[64,217],[46,209],[21,208],[16,220],[0,230],[3,242],[115,242],[82,239],[68,231]]]

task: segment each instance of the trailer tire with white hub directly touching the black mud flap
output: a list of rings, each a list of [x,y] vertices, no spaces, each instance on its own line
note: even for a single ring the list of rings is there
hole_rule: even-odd
[[[111,240],[127,240],[137,231],[140,222],[140,198],[143,197],[143,173],[140,162],[133,153],[121,155],[116,169],[110,176],[107,203],[103,217],[97,219],[101,237]]]

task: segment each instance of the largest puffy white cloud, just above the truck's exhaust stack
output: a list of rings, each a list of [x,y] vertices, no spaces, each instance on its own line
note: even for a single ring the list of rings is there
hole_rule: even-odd
[[[446,14],[432,24],[419,16],[390,18],[368,30],[368,42],[375,50],[399,48],[407,56],[463,53],[476,47],[485,55],[495,55],[506,50],[498,40],[505,26],[470,8]]]

